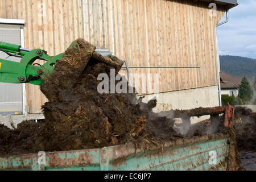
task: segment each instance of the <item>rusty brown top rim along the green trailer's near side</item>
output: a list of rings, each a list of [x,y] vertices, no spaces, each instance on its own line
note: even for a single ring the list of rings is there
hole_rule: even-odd
[[[163,150],[164,148],[169,147],[178,147],[182,146],[184,144],[192,144],[192,143],[198,143],[198,142],[205,142],[209,140],[216,140],[216,139],[222,139],[222,138],[229,138],[228,134],[213,134],[213,135],[205,135],[202,137],[192,137],[192,138],[179,138],[174,141],[169,142],[163,142],[162,144],[159,143],[158,146],[152,145],[150,147],[150,150],[145,150],[142,147],[135,148],[134,144],[126,144],[126,145],[118,145],[118,146],[110,146],[110,147],[103,147],[103,148],[94,148],[94,149],[88,149],[88,150],[73,150],[73,151],[59,151],[59,152],[46,152],[46,156],[48,159],[48,164],[46,164],[43,167],[40,167],[40,165],[36,164],[38,155],[37,154],[26,154],[26,155],[15,155],[15,156],[9,156],[5,158],[0,158],[0,164],[3,160],[15,160],[17,158],[20,159],[20,165],[17,167],[12,168],[2,168],[0,166],[0,170],[3,169],[20,169],[20,168],[26,168],[31,169],[32,166],[35,165],[37,168],[43,169],[46,167],[63,167],[63,166],[80,166],[80,165],[99,165],[101,166],[101,169],[107,169],[109,168],[109,162],[113,161],[118,158],[122,158],[123,156],[131,156],[139,153],[144,152],[150,152],[155,150]],[[97,155],[100,155],[100,159],[92,159],[92,156],[90,153],[95,153]],[[67,159],[67,155],[78,154],[76,157],[74,157],[71,160]],[[60,155],[63,155],[66,160],[59,160]],[[36,160],[35,160],[36,159]],[[24,161],[30,161],[28,164],[24,164]],[[34,161],[35,160],[35,161]]]

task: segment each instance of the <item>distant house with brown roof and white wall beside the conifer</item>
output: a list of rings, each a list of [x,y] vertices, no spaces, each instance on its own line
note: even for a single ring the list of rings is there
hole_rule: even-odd
[[[220,72],[221,95],[238,96],[238,87],[241,81],[225,72]]]

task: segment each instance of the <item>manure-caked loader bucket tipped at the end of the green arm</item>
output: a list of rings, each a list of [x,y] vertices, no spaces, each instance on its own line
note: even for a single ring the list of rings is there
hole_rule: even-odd
[[[61,59],[56,61],[51,75],[43,78],[42,85],[44,86],[41,85],[41,90],[49,100],[57,96],[58,90],[73,88],[89,61],[99,61],[110,65],[115,69],[115,73],[118,73],[123,61],[115,56],[102,56],[95,52],[95,49],[95,46],[81,38],[71,43]]]

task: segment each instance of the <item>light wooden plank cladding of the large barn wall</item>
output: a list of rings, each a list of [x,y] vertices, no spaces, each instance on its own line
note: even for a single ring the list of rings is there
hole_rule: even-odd
[[[222,7],[210,17],[208,3],[193,0],[0,2],[0,18],[25,20],[26,48],[57,55],[81,37],[110,49],[130,67],[201,67],[130,68],[131,73],[159,73],[159,92],[218,83],[215,26],[225,13]],[[27,111],[39,113],[47,98],[39,86],[27,84],[26,88]]]

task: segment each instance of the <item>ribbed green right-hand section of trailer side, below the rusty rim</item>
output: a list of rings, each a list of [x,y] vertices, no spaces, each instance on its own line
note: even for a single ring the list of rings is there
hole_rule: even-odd
[[[217,155],[228,154],[226,139],[185,144],[166,148],[164,151],[150,151],[147,155],[138,154],[126,158],[126,162],[119,165],[110,165],[110,170],[188,170],[202,162],[208,163],[208,152],[212,150]],[[210,165],[206,169],[209,168]]]

